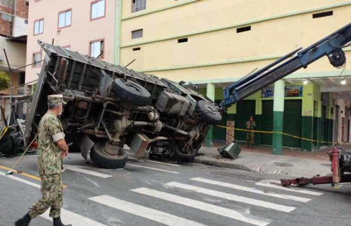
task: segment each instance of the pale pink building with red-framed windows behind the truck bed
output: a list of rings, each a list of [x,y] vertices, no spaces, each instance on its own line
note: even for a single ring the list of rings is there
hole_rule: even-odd
[[[26,81],[35,80],[43,53],[38,40],[114,62],[115,1],[30,0]]]

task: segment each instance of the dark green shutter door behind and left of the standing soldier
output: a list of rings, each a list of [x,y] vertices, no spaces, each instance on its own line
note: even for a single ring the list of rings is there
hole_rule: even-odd
[[[241,100],[237,103],[235,128],[246,129],[245,124],[250,116],[255,117],[256,100]],[[235,140],[246,142],[246,132],[235,131]]]

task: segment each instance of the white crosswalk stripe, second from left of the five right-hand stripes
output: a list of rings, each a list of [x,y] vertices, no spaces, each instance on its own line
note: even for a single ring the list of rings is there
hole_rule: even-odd
[[[207,211],[210,213],[218,214],[221,216],[229,217],[232,219],[240,220],[240,221],[251,223],[258,226],[266,226],[271,222],[271,220],[263,219],[257,216],[250,216],[250,214],[245,214],[233,209],[228,209],[221,206],[209,204],[206,202],[185,198],[182,196],[173,195],[173,194],[169,194],[169,193],[165,193],[165,192],[161,192],[161,191],[157,191],[157,190],[153,190],[145,187],[133,189],[131,191],[144,194],[144,195],[149,195],[149,196],[163,199],[166,201],[178,203],[181,205],[186,205],[192,208],[197,208],[203,211]]]

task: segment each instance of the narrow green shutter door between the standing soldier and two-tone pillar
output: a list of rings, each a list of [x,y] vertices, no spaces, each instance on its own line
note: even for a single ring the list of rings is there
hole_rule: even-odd
[[[273,130],[273,100],[262,100],[262,131]],[[272,145],[272,134],[261,134],[262,145]]]

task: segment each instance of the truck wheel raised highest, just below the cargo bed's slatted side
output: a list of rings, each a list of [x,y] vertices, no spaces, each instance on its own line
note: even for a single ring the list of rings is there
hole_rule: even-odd
[[[145,106],[151,103],[150,93],[136,82],[117,78],[112,83],[112,92],[122,101],[132,105]]]

